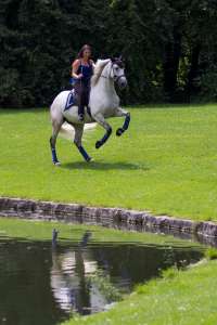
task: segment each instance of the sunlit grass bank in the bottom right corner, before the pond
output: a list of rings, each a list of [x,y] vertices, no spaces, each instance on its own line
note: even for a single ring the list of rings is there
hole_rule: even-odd
[[[214,325],[217,320],[217,261],[188,271],[168,270],[108,312],[75,317],[64,325]]]

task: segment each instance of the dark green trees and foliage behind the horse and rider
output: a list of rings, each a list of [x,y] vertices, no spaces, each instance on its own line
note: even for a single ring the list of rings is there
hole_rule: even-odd
[[[215,0],[0,0],[0,105],[49,106],[84,43],[123,54],[125,103],[217,99]]]

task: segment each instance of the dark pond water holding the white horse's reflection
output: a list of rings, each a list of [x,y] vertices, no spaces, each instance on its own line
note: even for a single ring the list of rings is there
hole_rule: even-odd
[[[154,235],[153,235],[154,236]],[[202,258],[202,248],[0,238],[0,324],[54,325],[111,307],[133,286]]]

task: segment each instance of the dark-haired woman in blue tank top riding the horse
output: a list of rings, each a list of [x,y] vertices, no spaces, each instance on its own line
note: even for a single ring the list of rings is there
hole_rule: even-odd
[[[91,48],[84,46],[72,65],[73,86],[78,98],[78,118],[84,120],[85,106],[88,106],[90,94],[90,78],[94,63],[91,57]]]

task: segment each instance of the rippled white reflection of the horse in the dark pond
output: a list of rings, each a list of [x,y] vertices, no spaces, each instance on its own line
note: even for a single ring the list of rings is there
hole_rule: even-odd
[[[64,255],[53,251],[52,261],[51,287],[61,309],[81,314],[103,310],[107,301],[90,281],[98,270],[90,252],[79,248]]]

